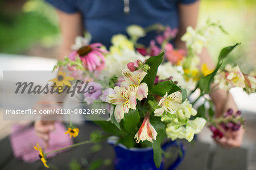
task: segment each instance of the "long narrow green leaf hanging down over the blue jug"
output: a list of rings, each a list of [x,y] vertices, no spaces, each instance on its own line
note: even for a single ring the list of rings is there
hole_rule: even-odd
[[[153,140],[152,148],[154,151],[154,161],[156,167],[160,167],[162,161],[163,150],[161,148],[161,144],[163,142],[164,136],[166,134],[165,127],[166,125],[160,121],[160,118],[151,118],[151,125],[155,128],[158,135],[156,135],[156,140]]]

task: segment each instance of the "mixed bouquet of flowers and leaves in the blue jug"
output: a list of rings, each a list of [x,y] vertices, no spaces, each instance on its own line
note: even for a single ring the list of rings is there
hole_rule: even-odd
[[[108,103],[108,120],[94,121],[105,131],[104,135],[93,132],[91,142],[106,139],[102,136],[111,136],[108,139],[112,143],[114,139],[115,146],[122,146],[126,150],[149,148],[154,152],[154,156],[150,152],[155,163],[150,166],[154,169],[162,163],[162,144],[168,139],[186,139],[191,142],[205,125],[213,132],[213,138],[222,138],[220,128],[239,130],[243,125],[241,111],[233,113],[229,109],[223,116],[216,118],[213,103],[207,97],[207,94],[216,90],[217,85],[226,90],[240,87],[247,93],[255,92],[255,76],[242,73],[238,66],[221,67],[223,60],[239,44],[223,48],[213,70],[206,64],[201,69],[198,67],[198,54],[218,28],[224,31],[220,24],[211,22],[196,30],[188,27],[181,38],[187,45],[187,52],[175,49],[170,43],[177,30],[161,24],[147,28],[137,25],[127,27],[130,38],[122,34],[114,35],[109,51],[100,43],[88,44],[88,39],[77,38],[76,45],[73,45],[75,51],[64,61],[58,61],[54,69],[73,71],[69,76],[82,77],[82,80],[94,84],[97,93],[84,95],[83,100],[87,105],[93,102]],[[158,35],[145,47],[139,43],[139,39],[149,31],[156,31]],[[96,76],[94,71],[104,70],[109,71],[109,84],[93,82]],[[85,71],[90,74],[83,74]],[[200,92],[200,95],[192,102],[189,96],[195,92]],[[194,109],[193,105],[200,98],[205,99],[203,104]],[[76,137],[79,129],[71,123],[67,133]],[[88,142],[81,144],[84,143]],[[78,145],[80,143],[73,146]],[[37,150],[46,165],[47,153],[44,154],[39,146]]]

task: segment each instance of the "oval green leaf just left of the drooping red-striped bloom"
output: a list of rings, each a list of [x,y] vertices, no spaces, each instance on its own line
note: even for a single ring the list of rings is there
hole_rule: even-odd
[[[123,117],[123,127],[127,132],[133,132],[140,119],[138,110],[130,109],[129,113],[126,113]]]

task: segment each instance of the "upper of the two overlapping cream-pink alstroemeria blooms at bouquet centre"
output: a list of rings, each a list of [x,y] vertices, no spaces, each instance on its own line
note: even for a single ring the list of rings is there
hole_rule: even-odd
[[[147,73],[141,69],[134,72],[131,72],[129,69],[122,70],[122,75],[125,78],[125,81],[122,82],[121,86],[125,87],[129,92],[134,92],[130,93],[130,95],[135,95],[135,98],[138,98],[139,101],[146,98],[148,95],[147,84],[144,82],[141,83],[146,74]]]

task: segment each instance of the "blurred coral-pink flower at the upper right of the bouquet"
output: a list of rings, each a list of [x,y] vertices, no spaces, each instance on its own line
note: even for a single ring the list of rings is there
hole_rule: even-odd
[[[168,61],[172,64],[179,64],[185,56],[185,51],[183,49],[174,49],[174,46],[171,43],[167,43],[164,47],[164,54]]]

